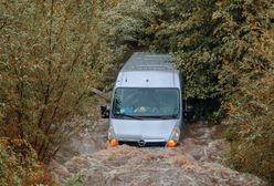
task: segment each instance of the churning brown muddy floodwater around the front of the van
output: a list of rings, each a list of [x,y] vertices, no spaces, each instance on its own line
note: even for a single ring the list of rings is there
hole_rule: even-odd
[[[88,121],[87,121],[88,122]],[[201,186],[266,185],[254,175],[239,173],[224,165],[228,148],[222,125],[189,125],[187,137],[175,148],[108,147],[107,121],[72,136],[51,163],[61,185],[73,174],[83,173],[84,185],[95,186]]]

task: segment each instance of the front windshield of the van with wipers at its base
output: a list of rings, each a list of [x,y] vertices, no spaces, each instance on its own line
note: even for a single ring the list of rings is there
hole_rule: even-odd
[[[116,118],[177,118],[180,91],[171,87],[118,87],[114,94]]]

